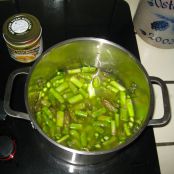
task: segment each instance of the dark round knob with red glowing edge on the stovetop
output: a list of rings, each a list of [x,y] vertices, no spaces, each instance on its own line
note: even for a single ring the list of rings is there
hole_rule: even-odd
[[[10,160],[16,153],[16,144],[8,136],[0,136],[0,160]]]

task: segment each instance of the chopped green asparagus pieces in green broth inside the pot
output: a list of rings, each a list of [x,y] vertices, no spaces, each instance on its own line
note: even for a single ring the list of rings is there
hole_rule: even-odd
[[[98,68],[57,71],[39,83],[29,88],[29,95],[35,95],[37,123],[64,146],[83,151],[112,149],[140,126],[128,90]]]

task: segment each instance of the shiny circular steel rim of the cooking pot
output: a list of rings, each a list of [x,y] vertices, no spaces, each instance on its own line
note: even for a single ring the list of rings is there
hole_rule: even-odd
[[[56,141],[54,141],[53,139],[49,138],[42,131],[42,129],[38,126],[37,122],[35,121],[35,119],[33,118],[32,114],[31,114],[31,111],[30,111],[30,108],[29,108],[29,103],[28,103],[28,97],[27,97],[27,89],[28,89],[27,87],[28,87],[28,84],[29,84],[29,81],[30,81],[31,74],[32,74],[33,70],[35,69],[36,65],[40,62],[40,60],[42,59],[42,57],[45,56],[47,53],[49,53],[50,50],[52,50],[55,47],[59,47],[59,46],[65,45],[65,44],[70,44],[70,43],[72,43],[74,41],[97,41],[97,42],[103,42],[103,43],[112,45],[112,46],[114,46],[116,48],[119,48],[122,51],[128,53],[128,55],[130,56],[130,58],[132,58],[136,62],[136,64],[138,64],[139,68],[145,74],[145,77],[146,77],[146,80],[147,80],[147,83],[148,83],[148,86],[149,86],[149,91],[150,91],[150,103],[149,103],[149,110],[148,110],[148,114],[147,114],[146,120],[144,121],[142,127],[136,133],[134,133],[133,136],[131,136],[130,138],[128,138],[128,140],[125,143],[123,143],[121,145],[118,145],[115,148],[112,148],[112,149],[109,149],[109,150],[89,151],[88,152],[88,151],[81,151],[81,150],[72,149],[72,148],[66,147],[64,145],[58,144]],[[38,59],[32,65],[32,67],[30,68],[30,71],[29,71],[29,74],[27,76],[27,80],[26,80],[26,83],[25,83],[25,93],[24,93],[24,95],[25,95],[25,105],[26,105],[27,111],[29,113],[30,121],[34,125],[34,128],[37,129],[37,131],[46,140],[48,140],[49,142],[51,142],[55,146],[57,146],[57,147],[59,147],[61,149],[64,149],[66,151],[69,151],[69,152],[71,152],[73,154],[76,153],[76,154],[81,154],[81,155],[101,155],[101,154],[108,154],[108,153],[116,152],[116,151],[121,150],[124,147],[128,146],[134,140],[136,140],[140,136],[140,134],[143,132],[143,130],[147,127],[147,125],[149,123],[149,120],[150,120],[150,117],[153,114],[153,109],[154,109],[154,92],[153,92],[152,84],[150,82],[150,78],[149,78],[149,75],[148,75],[147,71],[145,70],[145,68],[143,67],[143,65],[140,63],[140,61],[138,59],[136,59],[136,57],[130,51],[128,51],[126,48],[120,46],[119,44],[114,43],[114,42],[109,41],[109,40],[106,40],[106,39],[103,39],[103,38],[97,38],[97,37],[77,37],[77,38],[67,39],[65,41],[59,42],[57,44],[54,44],[53,46],[51,46],[50,48],[48,48],[46,51],[44,51],[38,57]]]

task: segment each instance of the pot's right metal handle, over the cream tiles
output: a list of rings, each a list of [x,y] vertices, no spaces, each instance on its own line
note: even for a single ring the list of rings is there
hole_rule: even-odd
[[[163,107],[164,107],[164,115],[159,119],[151,119],[149,121],[148,126],[165,126],[171,119],[171,108],[169,101],[168,89],[165,81],[158,77],[150,77],[150,81],[153,84],[157,84],[161,87],[162,91],[162,99],[163,99]]]

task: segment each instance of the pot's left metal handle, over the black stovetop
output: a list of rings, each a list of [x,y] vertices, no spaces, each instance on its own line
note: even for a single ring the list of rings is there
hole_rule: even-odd
[[[21,118],[21,119],[24,119],[24,120],[30,120],[29,115],[27,113],[15,111],[10,107],[10,100],[11,100],[11,92],[12,92],[12,88],[13,88],[13,82],[14,82],[16,76],[21,75],[21,74],[28,74],[29,69],[30,68],[17,69],[17,70],[13,71],[10,74],[10,76],[7,80],[6,89],[5,89],[5,96],[4,96],[4,110],[11,117]]]

